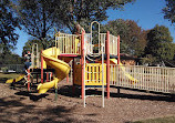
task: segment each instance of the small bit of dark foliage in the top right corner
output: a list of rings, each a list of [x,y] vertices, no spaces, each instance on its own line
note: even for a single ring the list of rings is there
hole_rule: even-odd
[[[163,9],[164,18],[168,19],[172,23],[175,22],[175,0],[165,0],[166,7]]]

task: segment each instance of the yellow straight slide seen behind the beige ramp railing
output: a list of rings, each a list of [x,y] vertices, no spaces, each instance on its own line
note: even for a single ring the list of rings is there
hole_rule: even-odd
[[[110,59],[111,62],[113,62],[114,64],[117,64],[117,60],[116,59]],[[122,69],[122,71],[124,72],[124,74],[130,79],[132,80],[133,82],[137,82],[138,80],[136,80],[135,78],[133,78],[131,74],[128,74],[126,71],[125,71],[125,68],[123,66],[123,64],[120,62],[120,68]]]

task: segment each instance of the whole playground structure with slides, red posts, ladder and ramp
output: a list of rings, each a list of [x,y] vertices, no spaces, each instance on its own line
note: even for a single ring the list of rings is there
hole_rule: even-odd
[[[97,25],[97,34],[93,33],[94,23]],[[120,62],[120,37],[114,37],[109,31],[101,33],[100,23],[96,21],[91,23],[91,33],[56,33],[55,45],[42,51],[41,60],[39,55],[38,45],[33,44],[32,65],[27,70],[27,75],[10,82],[25,76],[30,91],[31,74],[37,74],[37,81],[38,74],[41,74],[39,93],[45,93],[51,88],[58,93],[58,82],[68,76],[71,70],[68,63],[72,61],[73,88],[81,86],[84,106],[86,98],[90,96],[85,91],[94,88],[102,89],[102,106],[104,89],[107,99],[110,98],[110,85],[163,93],[175,92],[175,69],[123,65]]]

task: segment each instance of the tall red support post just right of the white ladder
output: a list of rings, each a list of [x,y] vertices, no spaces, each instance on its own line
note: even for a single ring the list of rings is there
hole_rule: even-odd
[[[110,31],[106,33],[106,91],[110,99]]]

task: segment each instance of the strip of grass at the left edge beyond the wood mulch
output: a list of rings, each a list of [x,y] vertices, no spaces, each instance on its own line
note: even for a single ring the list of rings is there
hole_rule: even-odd
[[[4,82],[8,79],[14,79],[17,76],[19,76],[18,73],[7,73],[7,74],[0,73],[0,82]]]

